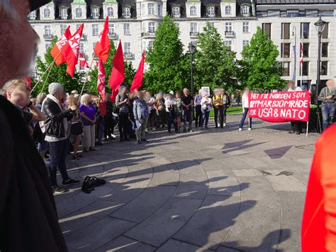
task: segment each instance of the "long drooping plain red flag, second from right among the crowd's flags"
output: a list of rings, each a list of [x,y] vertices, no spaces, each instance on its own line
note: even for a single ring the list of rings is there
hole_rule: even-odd
[[[125,66],[123,63],[123,47],[119,41],[116,55],[113,57],[113,68],[108,83],[112,90],[112,102],[116,102],[116,96],[121,82],[125,79]]]

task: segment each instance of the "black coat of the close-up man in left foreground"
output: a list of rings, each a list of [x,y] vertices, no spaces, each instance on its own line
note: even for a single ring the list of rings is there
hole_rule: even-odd
[[[47,168],[21,112],[0,96],[0,251],[67,251]]]

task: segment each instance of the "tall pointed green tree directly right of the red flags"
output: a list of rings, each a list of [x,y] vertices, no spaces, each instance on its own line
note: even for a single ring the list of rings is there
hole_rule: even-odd
[[[146,54],[145,61],[150,68],[145,72],[144,89],[150,92],[181,90],[190,83],[190,61],[183,54],[174,19],[165,16],[155,35],[153,48]]]

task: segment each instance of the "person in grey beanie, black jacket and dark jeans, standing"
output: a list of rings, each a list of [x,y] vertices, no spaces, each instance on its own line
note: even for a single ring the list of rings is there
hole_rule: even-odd
[[[65,190],[57,185],[56,174],[57,167],[62,175],[62,185],[78,184],[79,180],[72,180],[67,175],[67,146],[69,141],[69,123],[74,116],[77,106],[70,109],[64,109],[60,102],[64,96],[64,87],[62,84],[53,82],[48,87],[49,94],[42,104],[42,111],[47,116],[45,120],[45,141],[49,143],[50,164],[49,176],[54,193],[62,193]]]

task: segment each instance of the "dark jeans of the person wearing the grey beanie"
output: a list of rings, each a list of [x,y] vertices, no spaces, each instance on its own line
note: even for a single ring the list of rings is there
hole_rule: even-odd
[[[67,157],[67,139],[57,142],[49,142],[50,149],[50,164],[49,164],[49,176],[52,187],[57,185],[57,167],[60,170],[63,181],[69,180],[67,175],[67,165],[65,164],[65,158]]]

